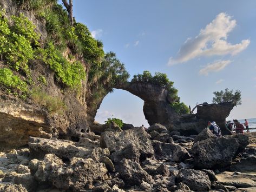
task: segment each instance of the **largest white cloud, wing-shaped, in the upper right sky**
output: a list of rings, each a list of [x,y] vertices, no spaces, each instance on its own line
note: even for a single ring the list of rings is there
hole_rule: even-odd
[[[235,25],[237,23],[231,16],[221,12],[206,25],[205,29],[200,30],[198,36],[188,38],[180,48],[178,56],[169,58],[168,65],[186,62],[200,56],[238,54],[248,47],[250,40],[245,39],[238,44],[228,43],[227,36]]]

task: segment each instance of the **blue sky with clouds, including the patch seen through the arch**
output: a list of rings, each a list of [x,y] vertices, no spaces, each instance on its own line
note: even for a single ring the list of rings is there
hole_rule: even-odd
[[[256,117],[256,1],[74,1],[74,17],[114,51],[131,77],[164,72],[193,108],[213,92],[242,92],[228,119]],[[148,125],[143,101],[123,90],[107,95],[96,115]]]

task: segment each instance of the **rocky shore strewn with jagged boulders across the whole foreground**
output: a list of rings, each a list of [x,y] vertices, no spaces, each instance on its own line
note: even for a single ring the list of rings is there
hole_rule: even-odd
[[[161,124],[111,124],[78,142],[30,137],[0,153],[0,191],[255,191],[255,145],[256,133],[182,136]]]

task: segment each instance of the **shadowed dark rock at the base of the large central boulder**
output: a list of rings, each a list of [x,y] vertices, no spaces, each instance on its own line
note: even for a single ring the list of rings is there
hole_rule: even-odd
[[[119,151],[115,151],[110,155],[110,159],[116,163],[120,162],[123,158],[139,162],[140,151],[135,144],[130,143],[126,147],[120,149]]]

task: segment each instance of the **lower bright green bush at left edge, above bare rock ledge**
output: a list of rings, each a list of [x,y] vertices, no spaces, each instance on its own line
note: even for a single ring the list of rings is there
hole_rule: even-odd
[[[0,68],[0,89],[4,89],[14,95],[20,94],[20,96],[24,97],[28,91],[28,85],[17,75],[14,75],[10,69]]]

